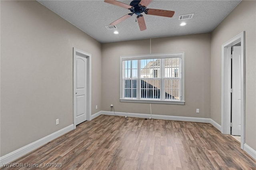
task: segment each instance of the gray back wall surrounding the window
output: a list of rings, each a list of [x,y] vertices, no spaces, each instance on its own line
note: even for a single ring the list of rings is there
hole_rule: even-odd
[[[185,105],[152,104],[152,114],[210,118],[210,33],[151,39],[152,53],[183,52]],[[102,110],[150,114],[149,104],[120,102],[120,55],[150,53],[150,39],[102,44]],[[200,109],[200,113],[196,113]]]

